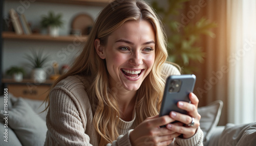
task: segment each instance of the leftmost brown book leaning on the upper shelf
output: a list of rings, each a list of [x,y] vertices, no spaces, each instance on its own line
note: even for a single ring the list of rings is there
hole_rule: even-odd
[[[23,28],[19,21],[18,13],[14,9],[10,9],[9,14],[15,33],[18,35],[23,34]]]

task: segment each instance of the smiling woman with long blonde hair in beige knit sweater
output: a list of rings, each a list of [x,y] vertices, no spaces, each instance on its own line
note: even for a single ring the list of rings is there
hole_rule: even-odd
[[[45,145],[202,145],[193,93],[191,103],[179,102],[187,115],[158,116],[165,79],[180,75],[166,58],[166,37],[147,3],[106,6],[80,56],[47,98]],[[169,124],[175,120],[180,122]]]

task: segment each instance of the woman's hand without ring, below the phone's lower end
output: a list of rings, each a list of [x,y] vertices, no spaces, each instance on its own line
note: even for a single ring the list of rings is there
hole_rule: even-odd
[[[169,115],[146,118],[140,125],[138,125],[130,133],[130,141],[132,145],[168,145],[172,143],[173,139],[180,135],[180,133],[168,130],[160,126],[172,123],[175,121]],[[182,123],[173,124],[177,127],[182,126]]]

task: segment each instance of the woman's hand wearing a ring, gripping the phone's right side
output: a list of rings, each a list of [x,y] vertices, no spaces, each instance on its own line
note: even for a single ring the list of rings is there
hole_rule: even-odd
[[[186,124],[186,126],[184,127],[184,126],[178,126],[174,124],[166,125],[167,129],[183,134],[183,138],[192,137],[196,133],[197,128],[200,126],[199,121],[201,119],[201,115],[197,111],[199,100],[194,93],[189,94],[189,99],[191,103],[178,102],[178,107],[180,109],[186,110],[187,115],[174,112],[174,111],[170,112],[170,117],[172,119],[178,120],[181,123]],[[195,124],[194,126],[189,127],[187,125],[191,123],[192,117],[194,117]]]

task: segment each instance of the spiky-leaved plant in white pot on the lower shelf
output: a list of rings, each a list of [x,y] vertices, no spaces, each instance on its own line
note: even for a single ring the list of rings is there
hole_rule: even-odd
[[[31,50],[32,54],[26,54],[26,58],[30,61],[29,66],[32,68],[31,78],[34,82],[42,83],[46,81],[47,75],[44,70],[44,65],[49,59],[49,55],[44,55],[42,50],[38,52]]]

